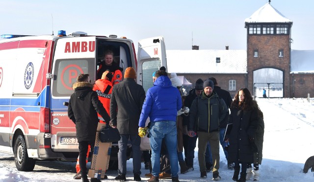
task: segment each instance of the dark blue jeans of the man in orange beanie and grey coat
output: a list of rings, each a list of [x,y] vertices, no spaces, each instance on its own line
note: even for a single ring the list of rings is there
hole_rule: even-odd
[[[141,137],[138,135],[121,135],[121,139],[118,142],[118,174],[127,174],[127,149],[129,137],[132,144],[133,174],[140,175],[142,152],[139,147],[141,144]]]

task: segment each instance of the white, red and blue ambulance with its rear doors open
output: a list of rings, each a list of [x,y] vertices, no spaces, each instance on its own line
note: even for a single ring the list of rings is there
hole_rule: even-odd
[[[13,154],[19,171],[32,171],[36,160],[77,160],[76,128],[67,103],[78,74],[88,73],[95,81],[106,50],[114,52],[122,73],[128,67],[137,71],[136,81],[145,91],[153,86],[152,73],[166,67],[162,36],[140,40],[137,58],[133,42],[125,37],[62,30],[1,38],[0,152]],[[147,138],[143,144],[142,150],[149,150]],[[110,160],[117,160],[117,152],[113,144]]]

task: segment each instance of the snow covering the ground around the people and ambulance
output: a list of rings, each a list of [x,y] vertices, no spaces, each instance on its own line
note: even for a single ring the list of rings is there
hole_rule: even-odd
[[[314,172],[302,173],[306,159],[314,156],[314,98],[310,101],[303,98],[296,99],[263,99],[257,101],[264,113],[265,134],[263,160],[260,166],[260,182],[313,182]],[[208,179],[201,179],[195,151],[194,171],[179,174],[181,182],[211,182],[212,173]],[[227,169],[227,161],[220,147],[221,182],[231,182],[233,171]],[[34,171],[17,171],[14,158],[0,153],[0,182],[80,182],[74,180],[75,162],[37,161]],[[127,162],[127,181],[133,181],[132,160]],[[149,170],[142,164],[142,181]],[[107,171],[108,180],[113,181],[117,171]],[[170,182],[171,180],[162,180]],[[251,180],[252,181],[252,180]]]

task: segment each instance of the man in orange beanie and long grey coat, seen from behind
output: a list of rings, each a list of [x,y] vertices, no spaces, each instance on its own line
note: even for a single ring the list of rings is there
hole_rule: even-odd
[[[113,127],[118,128],[121,139],[118,142],[118,176],[115,180],[126,182],[127,148],[129,138],[132,144],[134,181],[141,181],[141,138],[138,136],[138,120],[145,100],[145,91],[135,82],[136,72],[129,67],[123,82],[113,86],[110,99],[110,116]]]

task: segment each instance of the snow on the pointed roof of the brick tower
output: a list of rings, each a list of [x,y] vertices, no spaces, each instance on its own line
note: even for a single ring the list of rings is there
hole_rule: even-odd
[[[292,23],[269,3],[263,5],[251,17],[245,19],[245,23]]]

